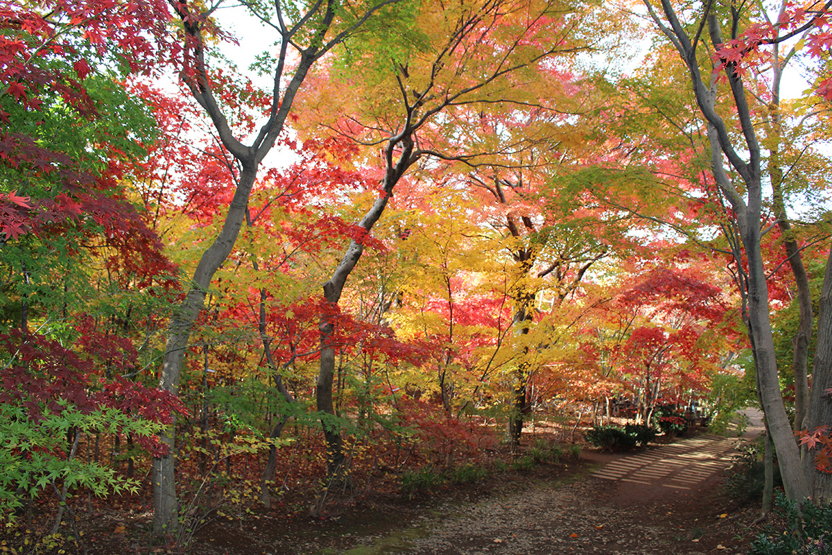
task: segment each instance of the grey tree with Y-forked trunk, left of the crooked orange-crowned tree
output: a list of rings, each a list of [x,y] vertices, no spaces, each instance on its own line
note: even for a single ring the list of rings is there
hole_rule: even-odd
[[[263,71],[272,77],[272,89],[265,95],[265,121],[253,135],[250,144],[238,137],[235,114],[248,95],[226,96],[221,87],[220,73],[210,66],[210,37],[218,30],[212,19],[220,3],[202,9],[186,2],[173,5],[183,25],[181,78],[210,118],[227,156],[226,166],[233,181],[233,196],[219,233],[202,253],[187,293],[171,315],[165,358],[162,362],[161,389],[176,394],[181,380],[182,364],[188,339],[197,317],[205,305],[206,294],[217,270],[234,248],[240,227],[245,221],[248,201],[265,156],[284,131],[286,118],[292,110],[295,95],[315,62],[344,42],[369,20],[390,17],[396,20],[397,0],[366,2],[341,10],[336,2],[309,2],[302,6],[249,4],[250,14],[260,19],[276,35],[276,52],[268,53]],[[391,12],[392,11],[392,12]],[[293,61],[297,56],[297,62]],[[230,113],[229,113],[230,112]],[[245,123],[245,119],[244,119]],[[244,126],[245,128],[245,126]],[[178,527],[174,430],[165,438],[171,447],[167,457],[156,458],[153,468],[154,523],[156,534],[171,533]]]

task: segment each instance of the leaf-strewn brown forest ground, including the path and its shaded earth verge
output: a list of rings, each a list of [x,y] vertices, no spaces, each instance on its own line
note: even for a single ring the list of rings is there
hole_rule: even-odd
[[[758,510],[721,488],[736,439],[698,435],[432,492],[325,520],[206,529],[191,553],[551,555],[746,553]]]

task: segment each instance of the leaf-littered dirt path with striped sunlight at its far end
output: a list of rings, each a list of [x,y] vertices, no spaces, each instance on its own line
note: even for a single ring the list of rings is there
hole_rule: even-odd
[[[590,465],[562,480],[444,505],[403,530],[318,553],[744,553],[748,538],[721,517],[730,500],[718,488],[735,444],[702,435],[626,456],[587,453]]]

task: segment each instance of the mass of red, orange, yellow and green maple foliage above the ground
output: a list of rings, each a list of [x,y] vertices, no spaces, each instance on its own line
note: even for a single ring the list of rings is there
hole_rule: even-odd
[[[657,41],[631,75],[599,77],[578,62],[615,53],[624,12],[276,6],[241,8],[278,45],[245,70],[224,50],[245,37],[200,2],[0,2],[0,520],[14,538],[68,522],[82,546],[82,499],[124,493],[157,516],[172,499],[154,525],[180,549],[244,509],[322,517],[414,471],[516,462],[538,423],[566,442],[614,419],[717,414],[715,384],[757,375],[740,360],[761,352],[748,222],[720,181],[722,156],[745,176],[726,148],[750,136],[740,112],[768,130],[768,167],[794,176],[750,222],[779,345],[798,288],[784,245],[815,295],[832,287],[814,211],[830,163],[801,142],[829,139],[826,7],[751,13],[710,62]],[[721,9],[708,15],[736,17]],[[792,39],[812,92],[775,117],[766,52]],[[760,100],[735,111],[714,78],[722,154],[716,117],[681,97],[699,63]],[[829,472],[829,427],[802,424]]]

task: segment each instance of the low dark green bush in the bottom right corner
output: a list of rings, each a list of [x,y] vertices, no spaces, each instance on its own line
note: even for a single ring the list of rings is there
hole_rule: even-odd
[[[785,519],[782,532],[769,529],[751,543],[752,555],[830,555],[832,553],[832,507],[796,503],[778,492],[775,506]]]

